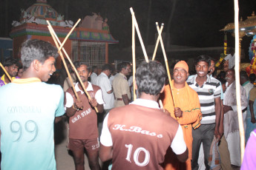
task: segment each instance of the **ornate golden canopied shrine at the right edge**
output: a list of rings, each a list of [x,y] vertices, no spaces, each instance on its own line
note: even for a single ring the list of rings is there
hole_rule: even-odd
[[[234,23],[227,24],[222,30],[228,33],[232,33],[234,36]],[[252,12],[252,16],[248,16],[245,21],[240,19],[239,22],[239,41],[243,40],[244,36],[253,36],[252,42],[249,47],[249,59],[251,60],[250,64],[241,64],[240,69],[246,70],[248,74],[255,73],[256,74],[256,16],[255,11]],[[241,45],[240,45],[241,47]],[[241,50],[240,50],[241,51]]]

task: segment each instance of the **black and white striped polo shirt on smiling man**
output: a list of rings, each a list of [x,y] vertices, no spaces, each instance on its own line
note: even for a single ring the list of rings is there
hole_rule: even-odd
[[[207,80],[204,82],[203,86],[200,87],[197,84],[196,78],[197,75],[188,78],[187,83],[188,86],[197,92],[200,101],[201,112],[203,114],[201,124],[215,123],[216,114],[214,99],[220,98],[220,81],[207,75]]]

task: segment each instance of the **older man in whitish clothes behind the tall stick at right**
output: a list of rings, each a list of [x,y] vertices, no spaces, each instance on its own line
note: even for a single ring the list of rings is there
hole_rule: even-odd
[[[231,164],[240,166],[240,135],[237,116],[237,96],[235,91],[234,69],[226,72],[226,92],[224,93],[224,135],[228,142]],[[246,111],[247,98],[246,90],[240,86],[241,107]]]

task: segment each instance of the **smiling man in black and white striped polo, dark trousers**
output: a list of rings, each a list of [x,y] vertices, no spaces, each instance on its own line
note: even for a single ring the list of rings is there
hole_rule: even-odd
[[[197,92],[200,109],[203,114],[201,126],[192,130],[192,161],[191,168],[198,169],[198,156],[200,145],[203,143],[204,163],[209,169],[209,152],[214,135],[217,142],[220,140],[220,81],[208,75],[211,60],[207,55],[196,58],[194,66],[197,75],[188,78],[187,83]]]

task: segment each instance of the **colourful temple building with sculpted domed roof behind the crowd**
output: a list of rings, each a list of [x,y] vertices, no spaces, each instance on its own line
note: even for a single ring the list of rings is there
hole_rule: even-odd
[[[30,38],[49,41],[55,45],[46,20],[50,21],[60,41],[65,39],[73,27],[73,21],[65,20],[64,16],[47,4],[47,0],[37,0],[27,10],[22,9],[19,21],[13,21],[10,37],[13,38],[14,58],[20,58],[21,44]],[[118,41],[109,32],[107,21],[107,18],[103,21],[102,16],[93,13],[92,16],[85,16],[79,27],[73,30],[64,45],[73,61],[85,61],[99,67],[108,63],[108,44],[116,44]],[[58,69],[61,62],[61,58],[57,58]]]

